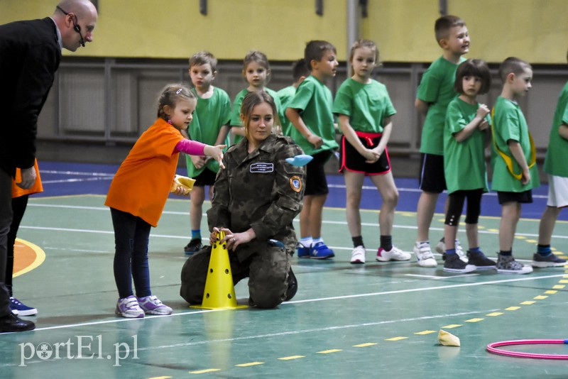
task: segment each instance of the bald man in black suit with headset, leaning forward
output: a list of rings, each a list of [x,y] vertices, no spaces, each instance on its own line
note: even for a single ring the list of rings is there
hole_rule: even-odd
[[[27,189],[35,182],[38,116],[58,70],[61,49],[75,51],[92,42],[97,9],[89,0],[62,0],[53,16],[0,26],[0,333],[26,331],[35,324],[9,307],[6,243],[12,220],[11,182]]]

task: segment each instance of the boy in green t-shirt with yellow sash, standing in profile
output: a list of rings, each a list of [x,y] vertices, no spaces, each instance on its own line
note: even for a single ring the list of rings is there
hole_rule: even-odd
[[[499,224],[499,256],[497,272],[532,273],[532,267],[513,258],[513,240],[520,219],[520,204],[532,203],[532,188],[540,185],[535,144],[527,121],[516,99],[531,87],[532,67],[516,57],[508,57],[499,67],[503,80],[501,96],[493,111],[493,143],[491,144],[491,189],[497,192],[501,204]]]

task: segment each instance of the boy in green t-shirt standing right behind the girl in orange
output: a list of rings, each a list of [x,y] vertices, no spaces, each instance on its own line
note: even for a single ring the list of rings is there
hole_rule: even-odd
[[[228,145],[231,116],[231,99],[219,87],[212,85],[217,76],[217,59],[207,51],[195,53],[190,57],[190,78],[194,85],[192,92],[197,97],[197,107],[189,134],[193,141],[208,145]],[[205,186],[209,186],[209,198],[212,197],[213,184],[219,171],[219,163],[211,157],[185,155],[187,176],[195,179],[191,192],[191,240],[185,248],[186,255],[199,251],[201,243],[202,206],[205,199]]]

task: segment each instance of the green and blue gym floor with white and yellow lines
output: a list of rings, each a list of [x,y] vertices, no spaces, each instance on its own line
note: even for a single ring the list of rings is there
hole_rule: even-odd
[[[116,165],[40,163],[45,187],[28,204],[18,237],[14,295],[38,308],[26,317],[35,331],[0,334],[3,378],[542,378],[568,376],[568,361],[510,358],[486,351],[491,342],[567,339],[568,267],[528,275],[493,270],[444,273],[410,262],[378,263],[381,199],[366,182],[361,208],[367,263],[350,265],[343,178],[329,176],[323,234],[332,260],[298,260],[297,295],[278,309],[204,310],[179,295],[182,248],[189,238],[189,201],[171,197],[150,241],[153,294],[173,307],[171,316],[114,316],[114,234],[104,207]],[[183,171],[180,170],[183,174]],[[411,251],[416,235],[417,181],[397,178],[400,191],[394,243]],[[513,246],[530,263],[546,186],[523,205]],[[442,236],[444,195],[432,222]],[[209,202],[204,204],[204,211]],[[498,250],[500,207],[486,194],[480,219],[481,248]],[[552,246],[568,250],[568,214],[561,213]],[[295,226],[298,226],[297,220]],[[202,231],[207,230],[206,218]],[[205,233],[207,234],[207,233]],[[464,232],[460,231],[462,240]],[[246,281],[236,285],[246,304]],[[564,326],[562,326],[564,325]],[[440,329],[461,340],[442,346]],[[567,345],[510,350],[567,354]]]

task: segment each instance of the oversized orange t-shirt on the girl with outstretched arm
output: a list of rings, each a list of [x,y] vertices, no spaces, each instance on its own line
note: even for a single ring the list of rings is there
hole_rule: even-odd
[[[120,165],[104,204],[158,226],[178,167],[175,146],[182,139],[178,129],[156,120]]]

